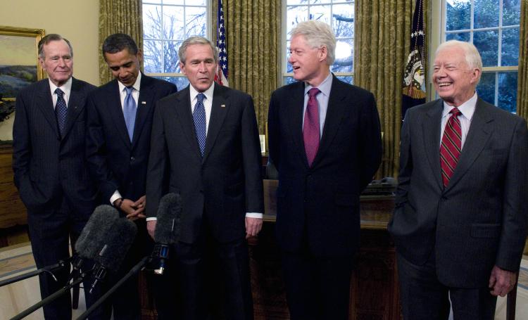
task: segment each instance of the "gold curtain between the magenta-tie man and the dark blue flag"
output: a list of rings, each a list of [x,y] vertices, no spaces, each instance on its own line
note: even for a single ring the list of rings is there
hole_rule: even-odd
[[[427,24],[429,1],[424,2],[424,23]],[[354,84],[372,91],[376,97],[384,133],[384,155],[377,177],[396,177],[403,71],[410,50],[415,1],[356,0],[355,4]],[[425,31],[427,34],[427,25]]]

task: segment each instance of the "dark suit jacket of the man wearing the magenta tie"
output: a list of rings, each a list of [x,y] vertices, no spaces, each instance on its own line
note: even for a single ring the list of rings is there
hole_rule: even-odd
[[[382,158],[374,96],[335,76],[312,167],[303,142],[304,83],[273,92],[268,116],[270,157],[279,172],[277,240],[283,250],[351,255],[358,248],[359,196]]]

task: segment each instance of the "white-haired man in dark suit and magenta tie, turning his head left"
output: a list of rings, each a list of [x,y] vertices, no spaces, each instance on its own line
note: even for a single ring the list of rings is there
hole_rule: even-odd
[[[331,74],[335,47],[329,25],[299,23],[289,48],[298,82],[270,101],[276,233],[291,319],[348,319],[359,196],[382,157],[375,98]]]

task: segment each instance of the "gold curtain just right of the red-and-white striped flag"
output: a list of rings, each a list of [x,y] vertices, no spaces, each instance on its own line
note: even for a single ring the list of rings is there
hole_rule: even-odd
[[[217,8],[213,0],[213,30]],[[270,96],[279,85],[281,1],[224,0],[223,10],[230,87],[253,96],[258,129],[265,134]]]

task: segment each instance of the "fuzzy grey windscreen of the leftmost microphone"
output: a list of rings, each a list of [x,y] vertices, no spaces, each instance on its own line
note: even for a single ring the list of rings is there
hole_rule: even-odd
[[[119,218],[119,212],[110,205],[99,205],[88,219],[75,242],[75,251],[80,257],[92,259],[103,246],[113,222]]]

